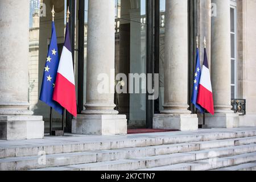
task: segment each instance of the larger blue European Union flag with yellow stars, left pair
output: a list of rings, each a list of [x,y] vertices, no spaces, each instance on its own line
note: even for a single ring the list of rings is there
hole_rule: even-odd
[[[59,103],[56,101],[52,100],[58,67],[59,53],[57,47],[56,30],[55,23],[52,22],[52,38],[48,49],[46,66],[44,67],[43,82],[39,99],[40,101],[43,101],[47,105],[51,106],[58,113],[63,114],[63,107],[61,107],[61,105],[59,105]]]

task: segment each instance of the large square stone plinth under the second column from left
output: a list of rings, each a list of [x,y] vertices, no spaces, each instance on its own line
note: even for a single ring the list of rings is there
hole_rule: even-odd
[[[127,134],[126,115],[80,114],[72,120],[72,133],[85,135]]]

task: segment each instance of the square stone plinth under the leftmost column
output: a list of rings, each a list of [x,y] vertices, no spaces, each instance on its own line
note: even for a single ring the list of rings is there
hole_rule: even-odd
[[[44,121],[36,115],[0,115],[0,140],[42,139]]]

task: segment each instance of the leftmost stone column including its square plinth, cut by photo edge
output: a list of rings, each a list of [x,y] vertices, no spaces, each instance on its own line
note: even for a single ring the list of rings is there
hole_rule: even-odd
[[[0,1],[0,139],[43,138],[42,117],[28,110],[29,1]]]

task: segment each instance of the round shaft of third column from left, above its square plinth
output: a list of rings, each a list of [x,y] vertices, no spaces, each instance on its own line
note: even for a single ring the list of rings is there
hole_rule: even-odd
[[[164,114],[188,110],[188,1],[166,1]]]

